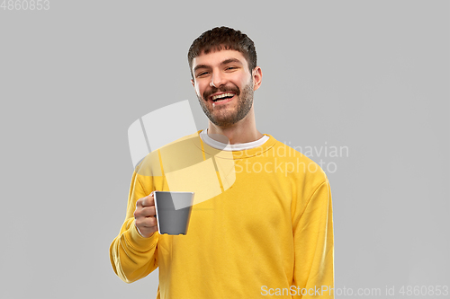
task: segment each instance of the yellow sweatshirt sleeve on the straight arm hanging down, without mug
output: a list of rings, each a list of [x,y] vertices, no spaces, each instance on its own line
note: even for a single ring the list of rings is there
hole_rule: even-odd
[[[293,218],[295,263],[293,298],[334,298],[333,214],[329,181],[299,205]],[[301,292],[299,292],[301,290]],[[299,294],[300,293],[300,294]]]

